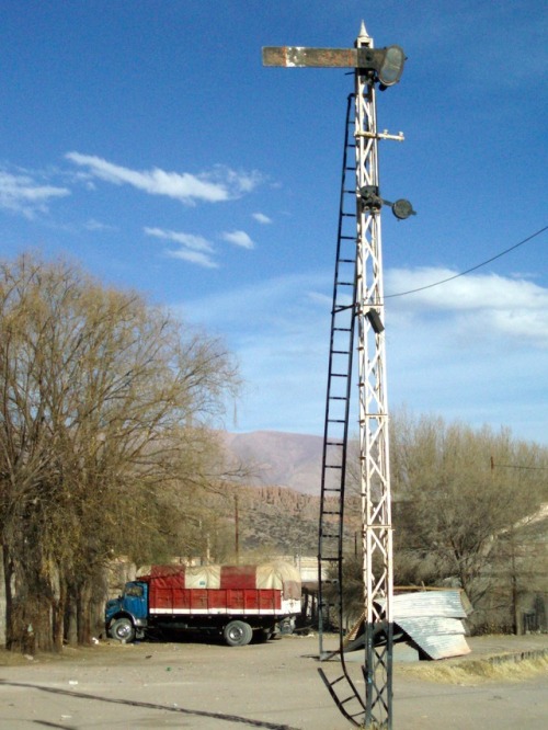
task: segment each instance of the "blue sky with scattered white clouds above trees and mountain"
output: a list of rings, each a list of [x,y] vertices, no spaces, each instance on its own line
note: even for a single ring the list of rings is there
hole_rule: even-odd
[[[352,47],[364,21],[408,58],[377,95],[406,138],[379,142],[381,195],[418,213],[383,212],[389,410],[548,444],[547,18],[541,0],[5,0],[1,255],[75,259],[221,338],[244,381],[227,430],[321,435],[353,75],[264,68],[261,48]]]

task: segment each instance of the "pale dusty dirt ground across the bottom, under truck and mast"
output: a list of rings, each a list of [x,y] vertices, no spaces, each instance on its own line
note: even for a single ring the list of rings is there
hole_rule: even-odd
[[[487,658],[548,653],[547,636],[469,640],[471,654],[442,662],[396,654],[395,730],[545,730],[548,661],[503,662],[484,676]],[[333,645],[334,646],[334,645]],[[100,642],[36,659],[0,652],[0,727],[5,730],[344,730],[319,677],[316,637],[265,645],[119,645]],[[349,661],[364,689],[359,657]],[[339,665],[322,662],[335,678]],[[489,666],[492,666],[489,664]]]

